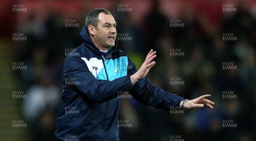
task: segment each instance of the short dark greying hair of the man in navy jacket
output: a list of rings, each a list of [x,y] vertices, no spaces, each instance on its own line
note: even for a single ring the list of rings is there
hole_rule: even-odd
[[[104,13],[104,14],[108,14],[108,15],[111,14],[110,11],[103,9],[103,8],[96,8],[96,9],[93,9],[92,11],[90,11],[90,13],[87,14],[87,16],[86,16],[85,23],[84,23],[85,28],[87,29],[87,32],[88,32],[89,25],[93,25],[97,28],[100,13]]]

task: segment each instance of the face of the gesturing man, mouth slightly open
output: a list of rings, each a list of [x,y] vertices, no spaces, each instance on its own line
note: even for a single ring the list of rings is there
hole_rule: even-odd
[[[94,44],[101,50],[108,50],[115,45],[116,21],[112,15],[100,13],[97,28],[94,27]]]

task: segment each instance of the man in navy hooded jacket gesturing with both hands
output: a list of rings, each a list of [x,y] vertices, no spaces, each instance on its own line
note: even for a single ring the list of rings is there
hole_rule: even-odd
[[[210,95],[188,101],[152,85],[145,76],[155,65],[156,52],[149,51],[137,70],[116,49],[116,22],[109,11],[101,8],[90,11],[81,36],[84,43],[64,62],[63,103],[55,132],[59,140],[119,141],[117,96],[120,91],[129,91],[137,101],[159,109],[179,106],[192,109],[204,105],[213,108],[214,103],[205,99]],[[79,112],[70,113],[72,109]]]

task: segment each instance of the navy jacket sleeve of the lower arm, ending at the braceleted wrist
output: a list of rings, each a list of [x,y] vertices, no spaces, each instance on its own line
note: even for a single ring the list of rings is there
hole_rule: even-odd
[[[128,70],[128,75],[137,72],[133,62],[128,59],[128,65],[131,69]],[[158,109],[170,109],[170,107],[178,107],[183,97],[171,94],[160,87],[152,85],[147,78],[140,79],[134,84],[129,93],[138,101],[146,105],[153,106]]]

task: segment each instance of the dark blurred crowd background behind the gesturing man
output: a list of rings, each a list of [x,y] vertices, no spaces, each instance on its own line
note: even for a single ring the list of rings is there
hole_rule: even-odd
[[[151,48],[157,51],[146,76],[151,83],[185,99],[209,93],[215,102],[214,109],[174,114],[122,99],[119,119],[132,126],[119,128],[120,141],[172,141],[175,135],[182,141],[256,141],[255,0],[0,3],[1,141],[56,141],[63,62],[68,49],[83,43],[79,34],[94,8],[111,11],[119,37],[128,37],[119,38],[118,48],[137,69]],[[173,27],[174,21],[180,25]],[[175,50],[181,55],[173,56]],[[172,85],[172,78],[183,84]],[[227,121],[235,126],[223,125]]]

